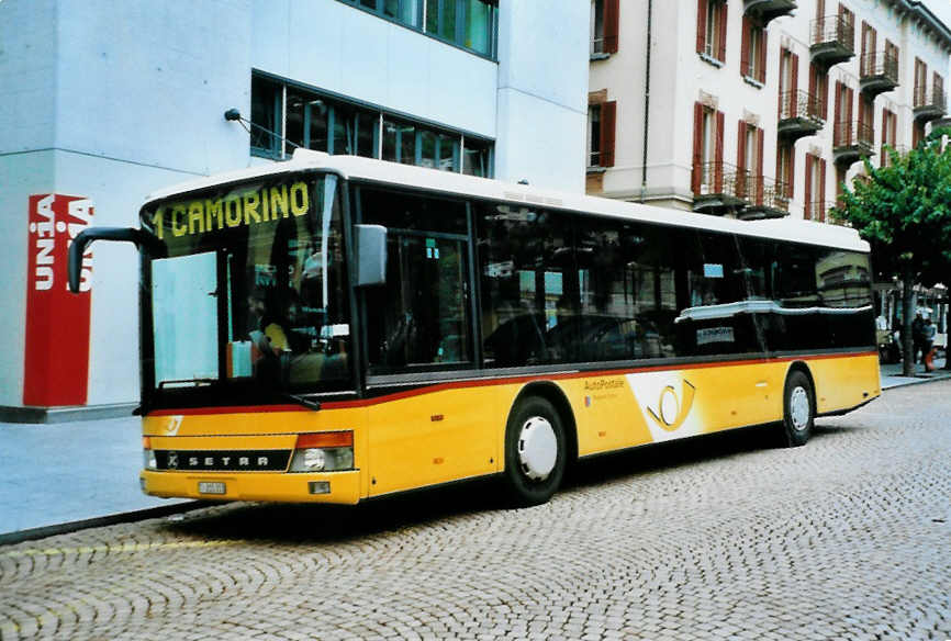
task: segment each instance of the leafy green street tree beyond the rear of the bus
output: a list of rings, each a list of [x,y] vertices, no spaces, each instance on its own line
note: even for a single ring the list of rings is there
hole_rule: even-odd
[[[888,167],[872,167],[866,177],[843,185],[831,214],[848,221],[873,247],[877,271],[902,281],[902,350],[913,349],[914,286],[932,285],[951,266],[951,148],[942,137],[951,127],[935,130],[902,156],[887,149]],[[914,374],[914,362],[903,359],[903,373]]]

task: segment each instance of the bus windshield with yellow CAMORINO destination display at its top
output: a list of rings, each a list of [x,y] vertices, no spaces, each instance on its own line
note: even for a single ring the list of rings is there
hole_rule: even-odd
[[[150,205],[143,224],[168,248],[148,266],[143,367],[153,392],[206,387],[235,403],[350,384],[336,176],[193,192]]]

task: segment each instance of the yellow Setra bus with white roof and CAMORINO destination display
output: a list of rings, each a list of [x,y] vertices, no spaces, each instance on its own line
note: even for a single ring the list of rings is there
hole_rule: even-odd
[[[145,493],[356,504],[499,475],[542,503],[579,459],[881,394],[869,246],[367,158],[153,194]]]

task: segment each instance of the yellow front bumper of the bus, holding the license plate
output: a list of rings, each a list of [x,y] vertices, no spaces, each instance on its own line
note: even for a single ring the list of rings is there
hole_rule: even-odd
[[[360,501],[360,471],[302,473],[139,473],[142,491],[164,498],[211,501],[277,501],[284,503],[337,503]]]

